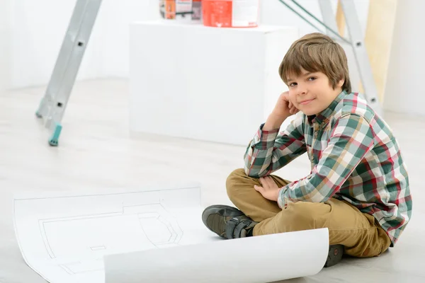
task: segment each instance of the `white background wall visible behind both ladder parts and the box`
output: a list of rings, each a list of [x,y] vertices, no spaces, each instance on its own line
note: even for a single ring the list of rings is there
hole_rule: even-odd
[[[57,59],[64,33],[77,0],[2,0],[0,4],[0,91],[4,88],[45,85]],[[128,24],[157,18],[158,0],[103,0],[77,79],[128,77]],[[298,0],[322,18],[318,1]],[[263,24],[295,25],[300,36],[316,30],[278,0],[261,0]],[[287,1],[290,2],[290,1]],[[405,3],[404,3],[405,2]],[[425,55],[421,52],[425,1],[398,5],[384,108],[425,115],[420,94]],[[331,0],[334,11],[337,0]],[[363,33],[369,0],[356,0]],[[319,25],[319,24],[317,24]],[[322,32],[324,29],[322,28]],[[403,42],[403,43],[401,43]],[[348,58],[352,54],[347,54]],[[414,64],[412,64],[414,62]],[[351,64],[353,87],[358,74]],[[418,91],[419,89],[419,91]]]

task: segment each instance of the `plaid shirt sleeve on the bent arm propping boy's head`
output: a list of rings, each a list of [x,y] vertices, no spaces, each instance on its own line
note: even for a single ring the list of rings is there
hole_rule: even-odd
[[[280,134],[279,129],[264,131],[263,125],[244,154],[245,173],[253,178],[269,175],[307,151],[303,115],[297,115]]]

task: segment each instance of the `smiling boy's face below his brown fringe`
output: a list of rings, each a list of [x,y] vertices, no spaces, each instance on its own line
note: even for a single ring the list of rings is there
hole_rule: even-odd
[[[334,89],[322,72],[310,73],[301,69],[300,76],[289,76],[289,97],[293,105],[305,115],[317,115],[331,105],[341,93],[343,84],[344,80],[339,81]]]

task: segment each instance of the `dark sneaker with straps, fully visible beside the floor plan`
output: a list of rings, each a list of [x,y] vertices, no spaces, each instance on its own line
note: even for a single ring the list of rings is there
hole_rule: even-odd
[[[202,221],[210,231],[222,238],[244,238],[258,222],[253,221],[235,207],[212,205],[202,214]]]

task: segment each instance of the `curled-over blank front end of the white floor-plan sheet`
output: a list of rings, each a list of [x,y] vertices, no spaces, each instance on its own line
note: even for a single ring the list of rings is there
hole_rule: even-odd
[[[275,282],[317,274],[328,229],[107,255],[106,283]]]

